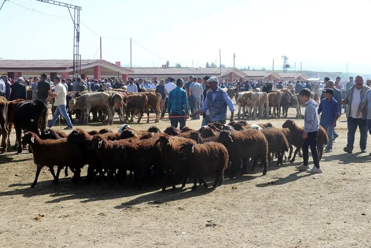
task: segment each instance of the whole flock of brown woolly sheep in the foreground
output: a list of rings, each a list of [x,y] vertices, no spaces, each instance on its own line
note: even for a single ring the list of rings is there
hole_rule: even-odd
[[[199,130],[184,127],[182,130],[168,127],[160,131],[156,126],[148,130],[134,130],[125,125],[120,132],[108,129],[87,132],[75,129],[70,134],[48,129],[39,136],[26,132],[21,144],[31,148],[37,172],[31,187],[37,184],[43,167],[48,167],[53,175],[53,183],[58,183],[59,173],[65,168],[73,172],[72,181],[81,180],[81,169],[87,165],[85,183],[92,179],[107,179],[110,186],[115,181],[121,183],[134,175],[134,185],[142,188],[143,182],[163,180],[165,191],[170,180],[172,189],[181,179],[182,187],[193,178],[193,190],[197,180],[204,185],[205,176],[216,175],[212,188],[221,185],[224,173],[230,178],[236,173],[254,173],[258,163],[267,173],[268,164],[277,157],[277,166],[291,158],[291,162],[302,145],[303,129],[292,120],[287,120],[283,128],[271,123],[250,125],[245,121],[222,125],[209,123]],[[321,127],[318,134],[320,158],[327,135]],[[287,158],[286,152],[290,150]],[[250,161],[251,160],[251,161]],[[55,174],[53,167],[57,167]],[[248,170],[248,167],[251,167]]]

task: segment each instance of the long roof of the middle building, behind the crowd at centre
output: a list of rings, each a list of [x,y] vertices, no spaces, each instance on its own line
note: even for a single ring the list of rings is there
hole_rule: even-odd
[[[220,67],[217,68],[150,68],[150,67],[138,67],[133,68],[134,73],[131,75],[221,75]],[[222,74],[229,74],[234,72],[239,76],[245,76],[243,71],[237,68],[222,68]]]

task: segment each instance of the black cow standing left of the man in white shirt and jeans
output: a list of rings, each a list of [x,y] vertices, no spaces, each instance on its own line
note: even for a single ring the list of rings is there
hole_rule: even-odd
[[[48,122],[48,107],[40,100],[20,102],[14,118],[15,133],[18,141],[17,153],[22,153],[21,134],[34,132],[40,136],[38,127],[45,131]]]

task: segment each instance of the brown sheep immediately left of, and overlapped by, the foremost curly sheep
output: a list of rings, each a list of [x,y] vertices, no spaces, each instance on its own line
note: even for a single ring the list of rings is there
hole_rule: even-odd
[[[166,190],[166,183],[168,177],[171,177],[172,190],[175,190],[174,176],[179,173],[188,173],[189,168],[185,160],[182,159],[182,155],[179,151],[181,144],[185,142],[192,142],[190,139],[184,139],[182,137],[169,136],[167,134],[161,135],[155,144],[159,144],[161,150],[161,167],[165,172],[164,183],[162,191]],[[184,177],[182,187],[185,186],[188,180],[188,176]]]

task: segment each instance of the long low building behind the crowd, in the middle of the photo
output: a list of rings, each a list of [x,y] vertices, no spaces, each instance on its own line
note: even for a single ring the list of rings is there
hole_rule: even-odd
[[[133,68],[129,75],[134,78],[146,78],[147,80],[183,78],[188,80],[189,76],[204,77],[205,75],[216,76],[219,81],[235,81],[240,77],[244,78],[246,74],[237,68]],[[222,71],[222,72],[221,72]]]

